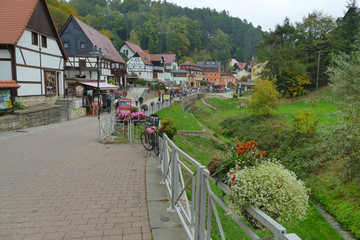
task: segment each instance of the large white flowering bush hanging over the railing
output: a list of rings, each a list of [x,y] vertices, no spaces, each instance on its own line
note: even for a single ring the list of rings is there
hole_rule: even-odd
[[[228,172],[227,183],[230,215],[244,215],[244,207],[251,205],[278,222],[295,224],[306,217],[309,190],[277,161],[235,166]]]

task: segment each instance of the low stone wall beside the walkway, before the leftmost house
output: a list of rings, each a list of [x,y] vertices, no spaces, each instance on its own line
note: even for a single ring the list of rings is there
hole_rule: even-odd
[[[0,117],[0,131],[37,127],[60,122],[60,106],[39,104]]]

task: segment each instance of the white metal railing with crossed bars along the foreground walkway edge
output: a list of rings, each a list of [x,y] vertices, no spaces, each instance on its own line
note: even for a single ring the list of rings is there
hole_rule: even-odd
[[[180,157],[196,170],[191,170],[185,162],[180,160]],[[228,212],[229,208],[222,199],[215,195],[210,182],[215,183],[223,194],[228,190],[228,186],[217,182],[210,176],[205,166],[178,148],[166,134],[160,138],[159,159],[162,170],[161,183],[166,185],[171,198],[169,210],[177,213],[188,238],[191,240],[211,239],[211,221],[212,214],[214,214],[220,237],[226,239],[216,204],[225,212]],[[185,181],[185,174],[189,178],[187,181]],[[191,200],[186,192],[186,188],[190,184],[192,185]],[[300,240],[296,234],[287,234],[284,227],[261,210],[248,206],[245,211],[272,233],[271,236],[261,238],[240,218],[234,218],[233,220],[251,239]]]

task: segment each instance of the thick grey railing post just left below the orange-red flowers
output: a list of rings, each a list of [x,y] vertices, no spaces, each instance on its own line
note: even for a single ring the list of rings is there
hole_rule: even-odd
[[[204,166],[197,169],[196,209],[195,209],[195,240],[203,240],[205,236],[206,217],[206,184],[204,179]]]

